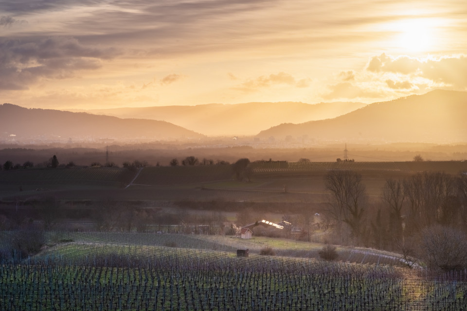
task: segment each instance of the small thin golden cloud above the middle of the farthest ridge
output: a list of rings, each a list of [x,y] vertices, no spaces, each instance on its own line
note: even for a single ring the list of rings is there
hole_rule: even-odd
[[[256,79],[250,79],[234,89],[242,90],[245,92],[257,91],[261,88],[270,87],[272,85],[285,84],[296,87],[309,86],[309,79],[301,79],[298,82],[295,78],[285,72],[272,73],[269,76],[260,76]]]

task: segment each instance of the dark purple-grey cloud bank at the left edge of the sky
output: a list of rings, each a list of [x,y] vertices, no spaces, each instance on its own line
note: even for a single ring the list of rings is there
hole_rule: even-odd
[[[0,39],[0,89],[28,89],[41,78],[70,78],[78,70],[101,68],[102,60],[117,54],[70,37]]]

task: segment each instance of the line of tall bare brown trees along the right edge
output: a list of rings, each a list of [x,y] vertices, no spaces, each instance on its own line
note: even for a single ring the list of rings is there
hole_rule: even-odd
[[[331,171],[326,215],[334,241],[401,251],[443,269],[467,267],[467,173],[388,178],[370,201],[359,173]]]

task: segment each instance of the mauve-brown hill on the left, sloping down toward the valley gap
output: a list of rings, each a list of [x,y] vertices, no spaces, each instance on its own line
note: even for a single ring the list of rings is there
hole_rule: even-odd
[[[178,139],[203,135],[165,121],[119,119],[84,112],[0,105],[0,136],[24,138]]]

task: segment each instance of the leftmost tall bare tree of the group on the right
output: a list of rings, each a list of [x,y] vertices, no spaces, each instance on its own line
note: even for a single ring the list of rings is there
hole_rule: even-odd
[[[331,191],[332,216],[338,223],[349,225],[353,237],[360,241],[366,203],[361,175],[351,171],[331,171],[324,184]]]

